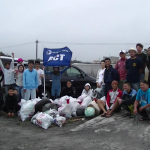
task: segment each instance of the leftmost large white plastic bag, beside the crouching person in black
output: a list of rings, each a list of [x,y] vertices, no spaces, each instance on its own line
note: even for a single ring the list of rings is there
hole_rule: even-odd
[[[19,112],[19,116],[21,118],[22,121],[25,121],[27,118],[32,117],[32,115],[35,112],[35,104],[40,101],[41,99],[34,99],[34,100],[28,100],[28,101],[24,101],[21,100],[21,109]]]

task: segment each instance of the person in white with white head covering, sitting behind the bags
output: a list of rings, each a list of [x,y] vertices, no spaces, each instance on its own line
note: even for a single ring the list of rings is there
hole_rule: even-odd
[[[85,108],[89,105],[89,103],[92,101],[92,94],[93,92],[91,90],[91,85],[86,83],[81,96],[78,97],[78,100],[82,102],[81,107]]]

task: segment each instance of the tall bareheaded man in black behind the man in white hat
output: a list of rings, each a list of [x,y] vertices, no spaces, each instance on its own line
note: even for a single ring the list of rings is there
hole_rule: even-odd
[[[141,60],[141,63],[142,63],[142,72],[140,74],[140,80],[144,80],[147,56],[144,53],[142,53],[143,45],[141,43],[136,44],[136,49],[137,49],[136,57],[139,58]]]

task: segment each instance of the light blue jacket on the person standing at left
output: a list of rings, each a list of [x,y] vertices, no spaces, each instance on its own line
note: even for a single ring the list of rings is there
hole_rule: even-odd
[[[38,88],[38,75],[35,69],[33,69],[32,71],[29,71],[29,69],[26,69],[24,71],[23,88],[30,89],[30,90]]]

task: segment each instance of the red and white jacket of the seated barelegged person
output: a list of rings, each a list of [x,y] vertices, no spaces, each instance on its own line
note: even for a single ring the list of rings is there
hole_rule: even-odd
[[[114,103],[115,103],[115,101],[116,101],[116,98],[117,98],[117,97],[121,98],[121,97],[122,97],[122,94],[123,94],[123,92],[122,92],[120,89],[118,89],[118,90],[115,91],[115,92],[114,92],[113,89],[112,89],[112,90],[110,90],[110,91],[107,93],[107,99],[106,99],[106,108],[107,108],[107,110],[113,108]],[[112,104],[112,105],[110,106],[110,104]]]

